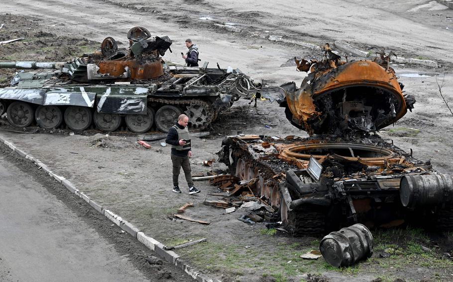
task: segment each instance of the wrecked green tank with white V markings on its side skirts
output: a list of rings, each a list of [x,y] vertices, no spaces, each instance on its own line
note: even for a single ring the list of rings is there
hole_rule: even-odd
[[[134,133],[154,125],[167,132],[185,113],[192,130],[203,130],[241,96],[256,92],[239,70],[170,66],[161,56],[172,41],[151,37],[143,27],[129,30],[128,48],[106,38],[101,51],[68,62],[6,62],[17,72],[0,88],[0,115],[26,128],[66,125],[73,131],[96,127],[112,132],[125,124]],[[94,126],[92,125],[94,123]]]

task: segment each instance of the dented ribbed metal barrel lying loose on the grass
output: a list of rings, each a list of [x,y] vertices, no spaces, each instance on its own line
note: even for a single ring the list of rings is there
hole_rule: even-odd
[[[350,266],[373,254],[373,235],[365,225],[356,223],[326,235],[319,249],[332,266]]]

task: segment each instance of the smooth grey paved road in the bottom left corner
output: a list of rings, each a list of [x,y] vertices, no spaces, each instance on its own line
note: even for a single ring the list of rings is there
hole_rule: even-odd
[[[0,281],[147,281],[125,256],[0,156]]]

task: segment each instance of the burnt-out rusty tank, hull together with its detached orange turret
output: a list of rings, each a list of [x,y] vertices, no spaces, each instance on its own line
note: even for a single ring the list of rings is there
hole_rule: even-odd
[[[272,206],[293,235],[326,235],[363,223],[391,227],[415,219],[453,230],[453,178],[371,134],[403,117],[415,99],[403,95],[389,56],[340,61],[296,60],[309,71],[263,89],[310,138],[239,135],[223,141],[220,159]]]

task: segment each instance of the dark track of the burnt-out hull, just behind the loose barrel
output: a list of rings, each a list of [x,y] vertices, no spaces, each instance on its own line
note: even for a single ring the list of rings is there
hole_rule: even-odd
[[[318,206],[303,206],[288,212],[285,229],[297,236],[319,236],[326,233],[327,210]]]

